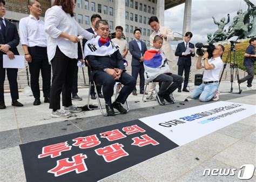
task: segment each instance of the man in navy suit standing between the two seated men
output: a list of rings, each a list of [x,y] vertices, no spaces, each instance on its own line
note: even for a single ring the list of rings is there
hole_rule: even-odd
[[[142,35],[142,31],[140,29],[135,29],[133,31],[134,40],[129,42],[129,51],[132,55],[132,76],[137,81],[137,77],[139,74],[139,93],[144,93],[144,85],[145,85],[145,78],[144,78],[144,53],[147,51],[147,46],[145,42],[140,41],[140,36]],[[137,89],[134,86],[132,91],[132,95],[137,96]]]

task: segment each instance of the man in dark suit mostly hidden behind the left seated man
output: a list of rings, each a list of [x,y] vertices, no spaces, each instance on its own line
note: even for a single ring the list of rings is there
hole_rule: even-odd
[[[95,25],[96,25],[96,22],[98,20],[102,19],[102,17],[98,14],[93,14],[91,16],[91,23],[92,23],[92,26],[90,29],[86,29],[87,31],[97,35],[96,33],[96,30],[95,30]],[[84,50],[84,45],[85,43],[87,42],[87,39],[83,39],[83,50]],[[87,65],[87,64],[86,64]],[[93,80],[92,80],[92,77],[91,77],[91,69],[90,69],[90,66],[87,65],[87,68],[88,68],[88,76],[89,76],[89,81],[91,82],[91,99],[96,99],[96,96],[95,96],[95,87],[93,85]],[[98,95],[99,95],[99,98],[104,98],[103,95],[102,95],[102,85],[96,85],[96,89],[97,89],[97,92],[98,92]]]

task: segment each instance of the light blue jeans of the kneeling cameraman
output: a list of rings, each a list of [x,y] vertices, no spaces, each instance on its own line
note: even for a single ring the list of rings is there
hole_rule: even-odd
[[[219,83],[210,83],[204,84],[202,83],[196,89],[193,90],[190,97],[192,99],[198,99],[201,102],[207,102],[215,96],[216,91],[218,90]]]

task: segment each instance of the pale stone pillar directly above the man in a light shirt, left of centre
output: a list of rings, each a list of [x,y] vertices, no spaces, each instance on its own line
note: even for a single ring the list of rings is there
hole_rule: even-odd
[[[114,1],[114,27],[122,26],[125,34],[125,0]]]

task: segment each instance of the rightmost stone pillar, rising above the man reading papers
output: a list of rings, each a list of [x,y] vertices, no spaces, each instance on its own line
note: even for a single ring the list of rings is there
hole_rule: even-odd
[[[183,19],[183,31],[182,31],[183,35],[185,35],[185,33],[187,31],[190,31],[191,4],[192,4],[192,0],[185,0],[184,19]]]

